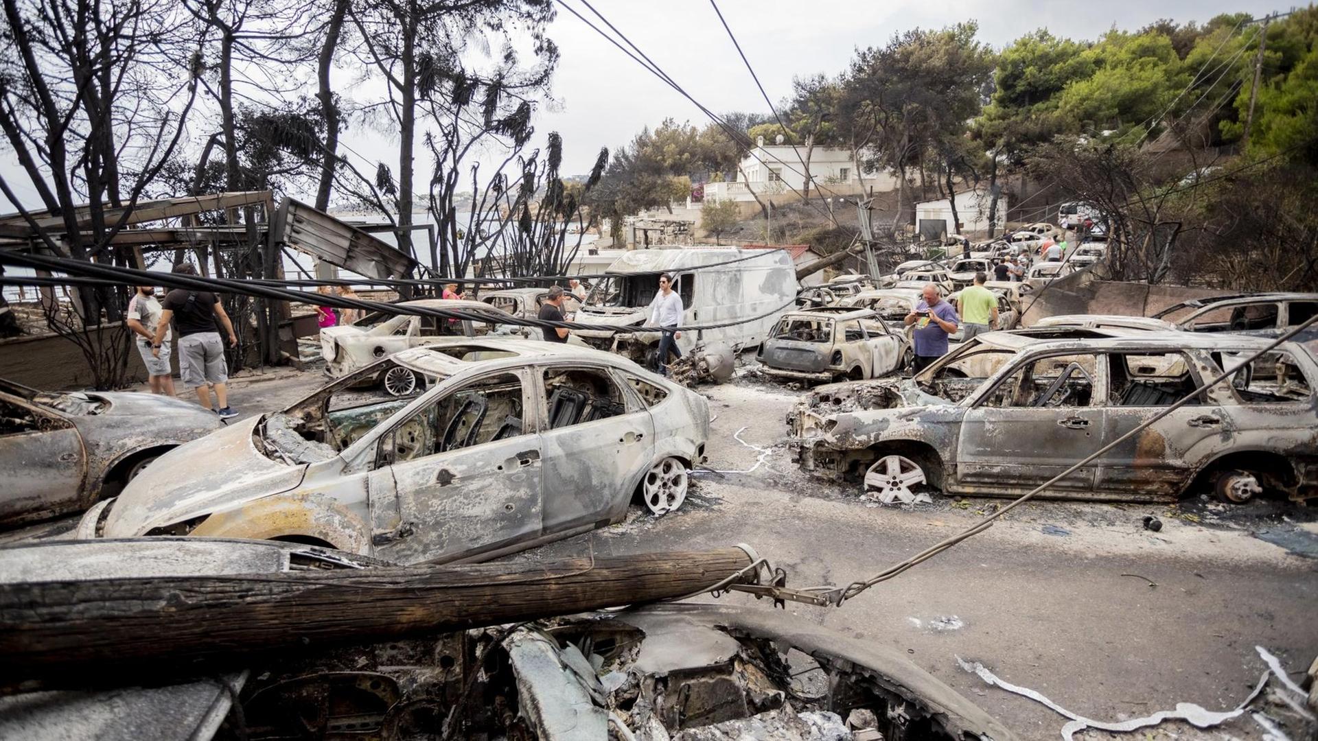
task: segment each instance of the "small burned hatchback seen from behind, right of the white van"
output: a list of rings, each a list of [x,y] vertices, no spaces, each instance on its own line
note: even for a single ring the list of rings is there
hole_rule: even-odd
[[[911,344],[869,309],[784,314],[759,345],[768,376],[797,381],[879,378],[909,364]]]

